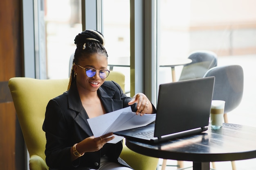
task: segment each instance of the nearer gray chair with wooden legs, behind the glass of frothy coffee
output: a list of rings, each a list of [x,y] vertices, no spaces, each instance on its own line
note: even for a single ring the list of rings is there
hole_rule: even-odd
[[[224,122],[228,123],[227,113],[236,109],[243,97],[244,74],[240,65],[217,66],[208,70],[204,77],[215,76],[213,100],[224,100]],[[232,169],[236,170],[234,161]],[[214,167],[213,167],[214,168]]]

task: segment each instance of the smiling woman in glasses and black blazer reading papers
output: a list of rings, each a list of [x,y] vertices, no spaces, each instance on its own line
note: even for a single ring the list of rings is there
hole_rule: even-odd
[[[76,36],[75,44],[68,91],[50,100],[46,108],[43,130],[47,165],[61,170],[130,170],[119,157],[122,142],[107,143],[114,139],[112,133],[94,137],[87,119],[129,105],[143,116],[155,113],[155,107],[144,94],[130,98],[117,83],[105,81],[110,71],[101,33],[83,31]]]

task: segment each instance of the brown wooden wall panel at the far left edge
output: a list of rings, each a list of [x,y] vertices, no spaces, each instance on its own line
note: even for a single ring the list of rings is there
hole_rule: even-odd
[[[0,0],[0,169],[25,170],[25,144],[8,81],[22,73],[22,0]]]

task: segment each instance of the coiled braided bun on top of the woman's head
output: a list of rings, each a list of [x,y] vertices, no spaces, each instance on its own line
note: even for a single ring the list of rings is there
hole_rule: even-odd
[[[74,43],[76,45],[78,44],[84,44],[87,41],[98,41],[99,43],[102,44],[102,46],[105,45],[105,39],[103,37],[103,35],[97,31],[97,30],[85,30],[82,33],[79,33],[78,35],[76,35],[75,39],[74,39]]]

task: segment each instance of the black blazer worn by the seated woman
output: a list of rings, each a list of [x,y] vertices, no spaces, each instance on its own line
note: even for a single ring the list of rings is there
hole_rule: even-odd
[[[128,102],[131,100],[123,93],[121,87],[112,81],[105,81],[97,93],[107,113],[128,107]],[[137,110],[136,106],[137,104],[131,106],[132,111]],[[153,108],[155,109],[155,107]],[[71,161],[70,148],[93,135],[87,122],[88,118],[81,103],[76,83],[71,85],[69,91],[49,101],[45,112],[43,131],[45,131],[47,139],[46,163],[50,168],[98,169],[102,155],[108,156],[110,161],[128,166],[119,157],[123,148],[122,141],[117,144],[105,144],[101,150],[85,153],[82,157]]]

